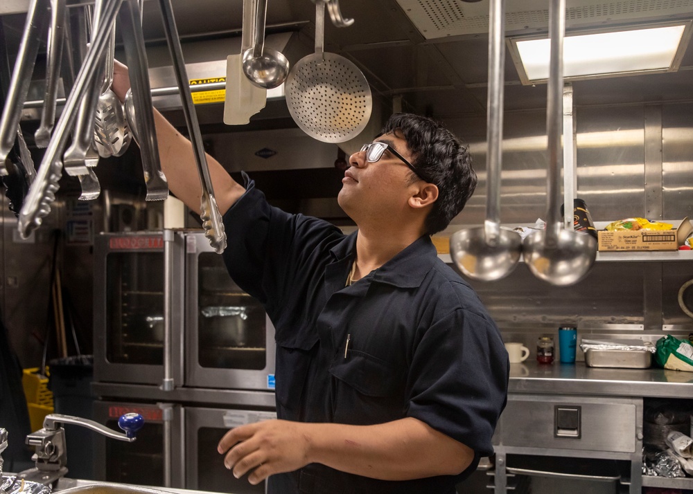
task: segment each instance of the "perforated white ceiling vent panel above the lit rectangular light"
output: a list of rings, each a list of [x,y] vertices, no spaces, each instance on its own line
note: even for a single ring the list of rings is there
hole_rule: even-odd
[[[489,32],[489,2],[462,0],[396,0],[405,15],[426,39]],[[624,22],[690,16],[693,0],[568,0],[567,28],[605,27]],[[505,30],[508,33],[547,30],[547,0],[508,0]]]

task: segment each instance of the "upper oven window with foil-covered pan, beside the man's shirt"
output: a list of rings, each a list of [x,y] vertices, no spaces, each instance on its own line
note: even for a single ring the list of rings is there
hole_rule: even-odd
[[[201,253],[198,269],[198,363],[264,369],[265,309],[231,280],[220,255]]]

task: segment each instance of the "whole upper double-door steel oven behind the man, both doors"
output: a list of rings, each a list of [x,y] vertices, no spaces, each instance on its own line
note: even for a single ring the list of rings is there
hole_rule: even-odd
[[[94,381],[274,390],[272,322],[202,230],[99,235],[95,259]]]

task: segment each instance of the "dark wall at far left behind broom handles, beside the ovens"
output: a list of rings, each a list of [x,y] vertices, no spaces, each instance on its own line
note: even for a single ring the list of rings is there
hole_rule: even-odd
[[[62,307],[67,313],[66,337],[69,354],[91,351],[92,244],[95,232],[103,229],[100,202],[78,201],[78,196],[61,194],[51,213],[28,239],[21,239],[17,219],[2,196],[0,236],[2,263],[0,310],[10,334],[10,343],[21,365],[39,367],[48,340],[48,358],[59,356],[51,309],[51,266],[53,245],[58,235],[56,266],[60,270]],[[74,331],[73,331],[74,329]]]

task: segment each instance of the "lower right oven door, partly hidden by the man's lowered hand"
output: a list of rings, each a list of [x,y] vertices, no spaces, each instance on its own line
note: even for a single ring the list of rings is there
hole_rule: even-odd
[[[275,412],[190,407],[185,411],[186,488],[234,494],[263,494],[267,482],[253,486],[227,470],[216,446],[230,429],[245,423],[276,419]]]

